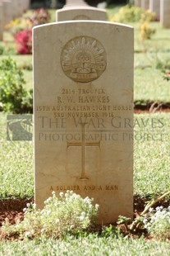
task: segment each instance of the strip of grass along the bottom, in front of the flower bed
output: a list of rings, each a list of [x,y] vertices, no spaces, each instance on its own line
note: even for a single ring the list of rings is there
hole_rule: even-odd
[[[34,239],[33,241],[2,242],[0,244],[1,256],[168,256],[169,251],[169,242],[145,241],[143,238],[99,238],[96,235],[88,235],[79,239]]]

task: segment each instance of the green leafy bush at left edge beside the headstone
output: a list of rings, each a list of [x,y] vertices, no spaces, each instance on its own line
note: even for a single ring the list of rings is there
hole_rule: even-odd
[[[30,107],[31,92],[23,88],[23,72],[16,67],[16,61],[9,57],[0,63],[0,102],[3,111],[20,113]]]

